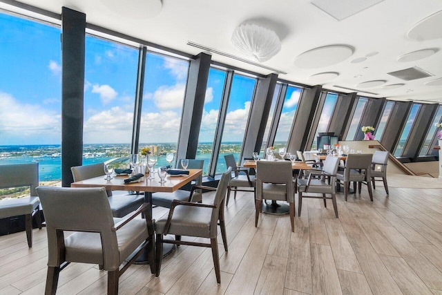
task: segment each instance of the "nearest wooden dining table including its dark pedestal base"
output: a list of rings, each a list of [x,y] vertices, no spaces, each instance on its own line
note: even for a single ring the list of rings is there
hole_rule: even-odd
[[[176,169],[174,169],[176,170]],[[106,180],[106,175],[97,176],[95,178],[89,178],[86,180],[81,180],[73,182],[70,187],[104,187],[106,190],[111,191],[142,191],[144,193],[144,202],[147,202],[151,210],[150,216],[152,216],[152,193],[163,192],[163,193],[173,193],[177,189],[180,189],[191,182],[193,179],[202,175],[202,169],[187,169],[189,174],[179,174],[179,175],[167,175],[166,182],[160,183],[160,177],[157,173],[153,173],[153,179],[148,179],[148,173],[144,177],[140,178],[136,182],[124,183],[124,180],[130,175],[115,175],[111,180]],[[168,247],[170,245],[170,247]],[[173,244],[165,244],[163,247],[163,255],[171,253],[175,249]],[[137,258],[136,263],[145,264],[148,263],[147,253],[143,253]]]

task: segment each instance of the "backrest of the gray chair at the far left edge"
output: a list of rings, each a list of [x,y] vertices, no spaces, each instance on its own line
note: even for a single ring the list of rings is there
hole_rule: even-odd
[[[38,186],[38,163],[0,165],[0,189],[30,187],[30,196],[37,196]]]

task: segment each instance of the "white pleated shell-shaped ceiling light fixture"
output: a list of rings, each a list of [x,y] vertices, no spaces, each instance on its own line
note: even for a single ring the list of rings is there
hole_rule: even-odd
[[[231,41],[236,50],[258,62],[271,59],[281,50],[281,41],[276,32],[253,23],[238,26],[233,31]]]

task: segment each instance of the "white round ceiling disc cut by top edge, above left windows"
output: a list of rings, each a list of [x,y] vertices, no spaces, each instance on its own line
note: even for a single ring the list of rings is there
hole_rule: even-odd
[[[99,0],[112,12],[128,19],[153,19],[162,10],[161,0]]]

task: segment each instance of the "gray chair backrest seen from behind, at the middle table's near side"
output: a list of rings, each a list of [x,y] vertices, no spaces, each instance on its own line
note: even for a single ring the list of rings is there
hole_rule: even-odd
[[[293,173],[289,161],[258,161],[256,162],[256,196],[262,199],[262,184],[285,184],[287,202],[294,201]]]

